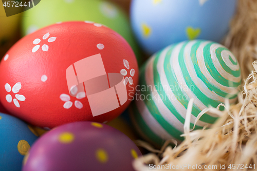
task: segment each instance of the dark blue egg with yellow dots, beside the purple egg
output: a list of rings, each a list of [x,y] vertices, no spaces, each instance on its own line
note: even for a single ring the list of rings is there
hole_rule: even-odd
[[[23,121],[0,113],[0,170],[22,169],[22,161],[38,138]]]

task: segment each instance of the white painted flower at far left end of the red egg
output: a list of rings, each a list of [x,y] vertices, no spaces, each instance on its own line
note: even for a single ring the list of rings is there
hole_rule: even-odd
[[[11,103],[13,101],[13,103],[14,103],[14,105],[16,107],[20,107],[19,101],[23,102],[23,101],[26,100],[26,98],[23,95],[17,94],[17,92],[19,92],[21,88],[22,88],[22,84],[20,82],[16,83],[12,88],[11,88],[10,84],[6,83],[5,84],[5,90],[7,92],[11,92],[12,91],[13,93],[15,93],[15,98],[16,98],[16,99],[15,98],[12,99],[11,94],[7,94],[6,97],[5,97],[6,101],[8,103]]]

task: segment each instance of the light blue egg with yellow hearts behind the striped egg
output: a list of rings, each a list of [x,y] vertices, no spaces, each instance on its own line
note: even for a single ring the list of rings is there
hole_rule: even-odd
[[[131,22],[144,51],[153,54],[180,41],[220,42],[236,0],[133,0]]]

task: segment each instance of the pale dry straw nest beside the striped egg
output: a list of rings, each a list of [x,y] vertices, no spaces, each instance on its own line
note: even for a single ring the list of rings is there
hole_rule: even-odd
[[[211,110],[220,118],[210,129],[190,131],[191,100],[185,134],[182,135],[185,140],[174,148],[168,146],[167,141],[160,150],[137,141],[153,153],[135,160],[136,170],[153,170],[148,165],[150,163],[159,165],[160,169],[156,170],[167,170],[168,167],[173,170],[247,170],[249,166],[254,169],[253,164],[257,169],[257,61],[254,61],[257,59],[257,1],[239,0],[238,3],[224,43],[237,56],[242,69],[243,83],[238,87],[242,90],[238,94],[238,103],[230,105],[227,101],[225,105],[221,104],[224,111],[212,107],[205,109],[200,115]]]

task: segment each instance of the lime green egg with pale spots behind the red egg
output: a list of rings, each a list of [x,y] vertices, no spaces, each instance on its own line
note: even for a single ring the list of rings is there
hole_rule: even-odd
[[[46,12],[47,9],[47,12]],[[102,0],[44,0],[25,11],[22,21],[23,35],[39,28],[67,21],[101,23],[115,30],[131,45],[138,62],[142,62],[127,14],[111,2]]]

